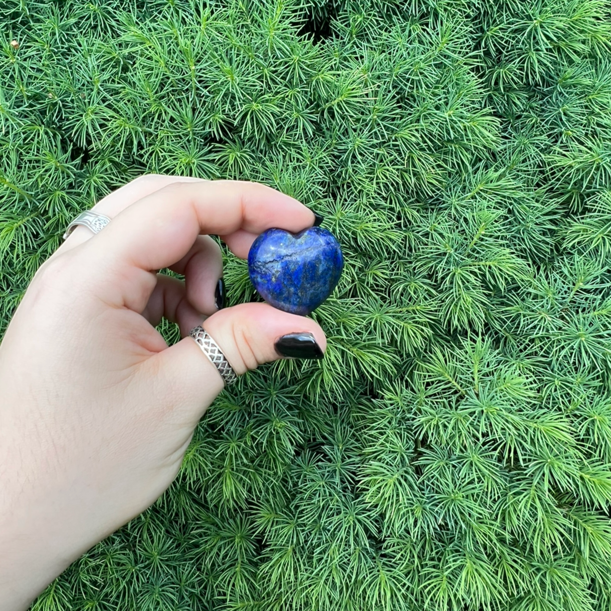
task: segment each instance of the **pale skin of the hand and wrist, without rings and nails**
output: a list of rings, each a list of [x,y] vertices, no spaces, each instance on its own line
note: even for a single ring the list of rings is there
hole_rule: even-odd
[[[224,387],[188,337],[202,324],[238,375],[315,321],[248,303],[217,310],[219,235],[246,258],[269,227],[314,214],[257,183],[147,175],[93,207],[38,269],[0,344],[0,609],[20,611],[71,562],[150,507]],[[186,282],[157,273],[170,268]],[[178,323],[167,346],[155,326]]]

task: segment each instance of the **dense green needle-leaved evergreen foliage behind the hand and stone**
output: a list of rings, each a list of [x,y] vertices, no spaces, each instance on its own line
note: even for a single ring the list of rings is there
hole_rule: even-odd
[[[0,15],[0,331],[144,172],[267,183],[346,255],[323,362],[222,393],[174,485],[32,609],[611,608],[611,2]],[[227,253],[225,279],[255,298]]]

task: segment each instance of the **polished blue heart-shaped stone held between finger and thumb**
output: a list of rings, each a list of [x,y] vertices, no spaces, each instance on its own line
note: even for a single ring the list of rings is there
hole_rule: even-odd
[[[320,227],[299,233],[268,229],[248,253],[248,273],[259,295],[279,310],[302,316],[331,295],[342,269],[338,241]]]

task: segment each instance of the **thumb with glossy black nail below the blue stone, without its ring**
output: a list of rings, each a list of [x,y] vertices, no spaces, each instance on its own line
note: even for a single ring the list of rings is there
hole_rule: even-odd
[[[237,375],[282,358],[321,359],[327,347],[323,329],[311,318],[271,305],[248,303],[214,313],[202,323]],[[156,354],[158,371],[180,380],[192,398],[210,404],[224,387],[221,375],[202,349],[185,337]]]

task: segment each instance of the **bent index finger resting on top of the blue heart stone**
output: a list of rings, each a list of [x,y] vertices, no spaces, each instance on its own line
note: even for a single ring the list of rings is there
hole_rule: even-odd
[[[258,235],[269,227],[298,232],[314,218],[297,200],[258,183],[177,182],[121,211],[82,244],[79,256],[92,273],[105,274],[107,290],[100,296],[106,302],[142,311],[151,287],[139,272],[183,260],[201,233],[229,236],[244,230]]]

